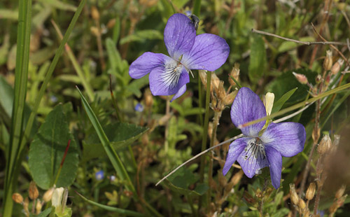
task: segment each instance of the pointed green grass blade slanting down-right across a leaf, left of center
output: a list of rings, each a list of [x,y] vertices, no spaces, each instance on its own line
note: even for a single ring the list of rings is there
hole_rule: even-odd
[[[77,87],[78,89],[78,87]],[[92,126],[94,127],[94,130],[96,131],[99,140],[102,143],[102,146],[104,147],[104,151],[106,151],[107,156],[109,157],[109,160],[111,161],[114,169],[116,169],[116,172],[118,176],[120,176],[120,179],[126,181],[127,190],[132,191],[134,195],[136,195],[136,190],[132,184],[132,181],[130,180],[129,175],[127,174],[127,171],[123,165],[123,162],[120,160],[118,154],[111,146],[111,143],[109,142],[109,139],[107,138],[106,134],[104,133],[104,130],[102,129],[102,125],[99,123],[99,120],[97,119],[97,116],[94,114],[94,111],[92,111],[90,105],[87,103],[85,97],[78,89],[78,92],[80,94],[81,102],[83,103],[84,109],[87,113],[87,116],[90,119],[90,122],[92,123]]]

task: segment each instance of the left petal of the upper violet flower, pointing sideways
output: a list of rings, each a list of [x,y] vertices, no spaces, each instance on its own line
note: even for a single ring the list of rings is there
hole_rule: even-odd
[[[164,66],[164,63],[170,60],[170,57],[162,53],[145,52],[132,62],[129,67],[129,75],[135,79],[142,78],[153,69]]]

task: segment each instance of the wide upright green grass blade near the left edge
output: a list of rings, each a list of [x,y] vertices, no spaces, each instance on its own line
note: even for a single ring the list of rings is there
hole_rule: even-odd
[[[20,155],[20,138],[23,129],[25,97],[27,93],[29,45],[31,29],[31,0],[20,1],[18,10],[17,53],[15,66],[15,98],[13,101],[10,143],[6,148],[6,179],[3,197],[3,216],[11,216],[13,200],[10,198],[15,186],[11,183],[16,169],[15,159]]]

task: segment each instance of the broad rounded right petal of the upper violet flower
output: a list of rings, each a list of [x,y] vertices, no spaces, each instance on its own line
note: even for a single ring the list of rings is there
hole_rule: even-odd
[[[214,34],[200,34],[188,53],[183,54],[181,63],[188,69],[214,71],[228,59],[230,47],[225,39]]]

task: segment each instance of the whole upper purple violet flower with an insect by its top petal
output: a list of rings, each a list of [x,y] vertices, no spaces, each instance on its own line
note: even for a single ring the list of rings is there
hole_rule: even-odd
[[[164,41],[170,57],[145,52],[129,68],[132,78],[150,73],[150,89],[154,96],[172,95],[172,101],[186,92],[191,69],[214,71],[228,59],[230,47],[214,34],[196,36],[195,25],[186,15],[172,15],[164,30]]]

